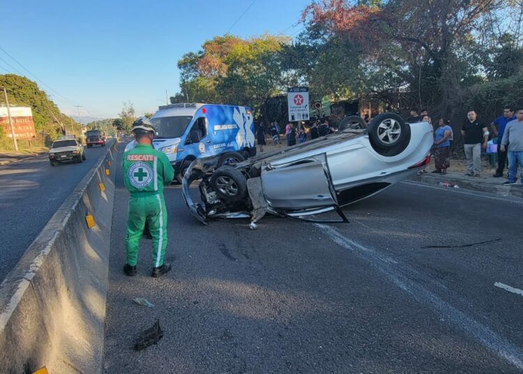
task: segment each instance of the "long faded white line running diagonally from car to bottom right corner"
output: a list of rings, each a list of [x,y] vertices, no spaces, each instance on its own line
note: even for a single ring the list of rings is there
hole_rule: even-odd
[[[319,229],[335,244],[349,250],[349,252],[380,271],[397,287],[400,287],[401,290],[410,294],[414,300],[418,301],[418,303],[431,308],[432,311],[439,315],[439,317],[454,324],[455,327],[464,331],[488,350],[497,354],[499,357],[506,359],[523,371],[523,350],[521,347],[513,345],[510,341],[492,331],[492,329],[487,327],[485,324],[474,320],[473,317],[470,317],[462,311],[459,311],[454,306],[448,304],[444,299],[437,296],[437,294],[434,294],[423,287],[423,285],[420,285],[414,280],[407,278],[407,276],[404,276],[397,267],[390,263],[389,260],[391,259],[386,255],[345,238],[340,232],[338,232],[338,230],[335,230],[331,226],[319,223],[314,223],[314,225],[319,227]],[[404,269],[407,268],[409,268],[409,266],[404,264]]]

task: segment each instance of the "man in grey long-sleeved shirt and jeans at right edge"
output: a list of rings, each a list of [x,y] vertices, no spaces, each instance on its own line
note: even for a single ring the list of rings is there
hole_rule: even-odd
[[[505,186],[517,183],[518,164],[523,170],[523,108],[517,110],[516,117],[515,120],[508,122],[501,140],[502,153],[506,151],[508,144],[508,179],[503,183]],[[523,176],[521,177],[523,182]]]

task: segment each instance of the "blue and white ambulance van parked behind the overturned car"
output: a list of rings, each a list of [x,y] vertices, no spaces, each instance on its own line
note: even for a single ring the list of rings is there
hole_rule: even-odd
[[[220,165],[255,156],[255,125],[249,107],[203,103],[162,105],[151,118],[153,146],[162,151],[181,182],[193,160],[220,154]],[[126,146],[132,149],[135,142]]]

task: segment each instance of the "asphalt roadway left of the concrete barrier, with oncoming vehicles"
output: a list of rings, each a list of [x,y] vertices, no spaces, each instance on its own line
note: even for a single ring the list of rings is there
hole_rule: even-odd
[[[81,164],[39,156],[0,167],[0,282],[107,147],[86,149]]]

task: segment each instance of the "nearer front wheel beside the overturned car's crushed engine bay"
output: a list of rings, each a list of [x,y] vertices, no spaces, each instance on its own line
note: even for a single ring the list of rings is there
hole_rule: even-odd
[[[216,195],[226,202],[243,200],[247,195],[247,179],[231,166],[218,167],[210,179]]]

